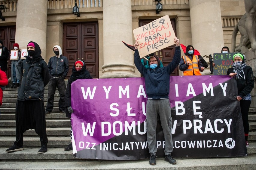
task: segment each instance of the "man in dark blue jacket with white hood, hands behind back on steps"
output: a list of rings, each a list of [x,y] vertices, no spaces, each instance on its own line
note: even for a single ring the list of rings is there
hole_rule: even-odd
[[[66,84],[64,79],[69,72],[69,61],[67,57],[62,55],[62,50],[59,45],[53,47],[53,52],[55,56],[51,57],[48,62],[50,83],[48,85],[48,101],[45,108],[45,114],[51,113],[53,110],[56,87],[58,87],[59,90],[59,111],[60,113],[65,113]]]

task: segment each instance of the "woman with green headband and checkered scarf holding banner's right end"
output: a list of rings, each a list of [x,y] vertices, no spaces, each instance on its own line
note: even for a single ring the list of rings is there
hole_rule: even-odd
[[[240,102],[242,120],[245,132],[245,144],[248,143],[249,122],[248,112],[251,104],[251,90],[254,86],[254,76],[250,66],[246,66],[245,55],[236,53],[233,55],[233,65],[227,70],[227,75],[236,77],[238,96],[236,99]]]

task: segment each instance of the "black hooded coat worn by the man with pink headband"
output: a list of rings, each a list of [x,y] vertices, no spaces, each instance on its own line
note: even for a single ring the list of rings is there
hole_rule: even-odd
[[[32,41],[31,41],[32,42]],[[21,63],[22,82],[18,89],[18,100],[44,100],[44,87],[50,81],[50,74],[47,63],[41,57],[41,49],[35,42],[35,52],[31,59],[26,59]]]

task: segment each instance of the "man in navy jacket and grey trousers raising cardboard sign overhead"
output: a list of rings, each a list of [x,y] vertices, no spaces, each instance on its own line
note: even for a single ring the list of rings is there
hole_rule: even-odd
[[[168,66],[160,67],[160,60],[158,57],[151,56],[149,58],[149,69],[146,69],[142,64],[139,57],[138,45],[135,43],[134,63],[139,72],[145,77],[146,92],[148,101],[146,105],[146,128],[148,139],[148,150],[150,153],[150,165],[156,165],[156,128],[157,116],[160,117],[161,125],[163,128],[164,141],[165,141],[165,158],[164,160],[170,164],[176,164],[176,160],[172,158],[172,118],[171,107],[169,101],[169,83],[170,74],[177,68],[181,60],[180,42],[177,38],[174,39],[176,43],[174,57]]]

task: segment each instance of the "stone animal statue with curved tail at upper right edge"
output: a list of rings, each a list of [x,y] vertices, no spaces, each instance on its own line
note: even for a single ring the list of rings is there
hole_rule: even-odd
[[[256,50],[256,1],[245,0],[245,14],[236,24],[231,38],[231,52],[245,53]],[[241,34],[240,44],[236,46],[236,36],[238,31]]]

